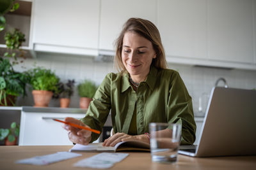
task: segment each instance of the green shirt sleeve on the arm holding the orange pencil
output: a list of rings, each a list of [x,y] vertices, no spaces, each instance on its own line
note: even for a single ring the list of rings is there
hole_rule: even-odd
[[[88,111],[81,121],[91,127],[102,132],[103,125],[105,124],[109,111],[111,109],[111,74],[106,75],[99,88],[93,96],[93,100],[90,102]],[[99,134],[92,132],[92,141],[99,138]]]

